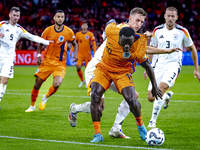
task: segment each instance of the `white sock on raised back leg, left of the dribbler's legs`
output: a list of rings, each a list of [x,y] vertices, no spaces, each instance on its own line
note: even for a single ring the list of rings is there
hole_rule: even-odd
[[[91,102],[85,102],[83,104],[75,105],[72,107],[72,113],[84,112],[90,113]]]

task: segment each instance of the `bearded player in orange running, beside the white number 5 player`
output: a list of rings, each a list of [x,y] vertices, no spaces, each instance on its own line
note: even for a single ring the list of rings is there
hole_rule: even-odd
[[[53,85],[49,91],[43,96],[39,109],[43,110],[46,107],[47,99],[53,95],[62,83],[66,72],[66,50],[67,43],[71,42],[74,46],[74,61],[77,61],[78,44],[75,40],[74,32],[65,26],[65,14],[62,10],[57,10],[54,15],[55,24],[47,27],[42,33],[42,38],[50,40],[50,45],[46,48],[44,53],[44,60],[41,60],[42,44],[38,46],[38,60],[37,64],[40,65],[35,72],[35,85],[31,93],[31,106],[26,112],[35,110],[35,102],[38,97],[39,89],[43,82],[53,74]],[[42,62],[42,63],[41,63]]]

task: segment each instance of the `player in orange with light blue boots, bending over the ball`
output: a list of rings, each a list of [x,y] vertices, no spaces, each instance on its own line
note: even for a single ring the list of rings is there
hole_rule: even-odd
[[[161,97],[161,91],[157,87],[153,69],[146,57],[147,39],[145,35],[137,34],[131,27],[117,27],[111,22],[105,29],[107,36],[106,47],[101,62],[96,65],[94,78],[91,83],[91,116],[95,130],[91,142],[104,141],[100,130],[100,118],[102,108],[100,106],[101,96],[109,88],[113,81],[120,94],[129,104],[133,113],[140,138],[145,140],[147,130],[142,121],[141,105],[135,97],[135,85],[132,80],[132,61],[137,61],[147,71],[152,82],[152,95]],[[135,36],[135,38],[134,38]]]

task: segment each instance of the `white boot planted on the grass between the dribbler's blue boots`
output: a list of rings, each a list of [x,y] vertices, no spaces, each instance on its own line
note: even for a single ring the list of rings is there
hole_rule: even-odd
[[[129,136],[126,136],[122,129],[117,129],[117,128],[114,128],[112,127],[108,133],[108,135],[112,138],[125,138],[125,139],[130,139]]]

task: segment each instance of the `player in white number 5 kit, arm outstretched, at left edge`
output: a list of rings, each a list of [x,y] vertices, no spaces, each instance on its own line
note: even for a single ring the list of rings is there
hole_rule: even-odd
[[[19,7],[11,8],[9,18],[9,21],[0,22],[0,101],[6,91],[8,79],[13,78],[17,41],[24,37],[37,43],[49,45],[49,41],[28,33],[17,24],[20,18]]]

